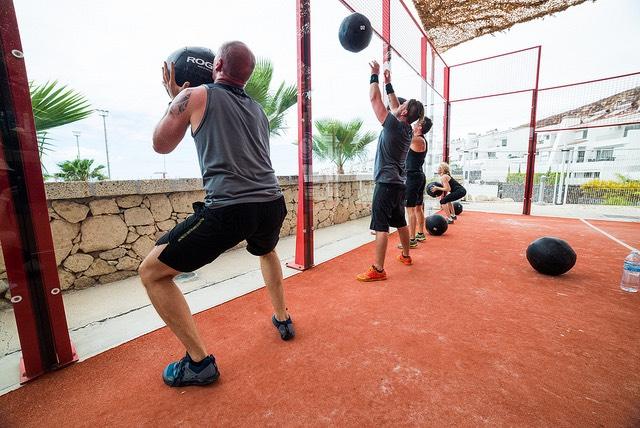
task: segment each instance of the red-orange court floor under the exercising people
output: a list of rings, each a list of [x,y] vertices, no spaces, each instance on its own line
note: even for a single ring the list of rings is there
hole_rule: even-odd
[[[640,224],[594,222],[629,245]],[[527,245],[567,240],[561,277]],[[285,281],[282,342],[258,290],[196,316],[221,378],[172,389],[166,329],[0,397],[0,426],[639,426],[640,295],[619,289],[620,243],[576,219],[465,212],[359,283],[367,244]],[[215,263],[215,262],[214,262]],[[639,293],[640,294],[640,293]]]

